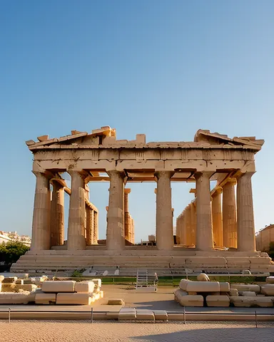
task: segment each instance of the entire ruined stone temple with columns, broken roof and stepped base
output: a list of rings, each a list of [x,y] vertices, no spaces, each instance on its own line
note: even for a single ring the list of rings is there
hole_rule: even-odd
[[[208,130],[198,130],[193,142],[146,142],[143,134],[116,140],[116,130],[108,126],[38,140],[26,142],[36,175],[31,251],[13,271],[144,265],[177,273],[273,269],[268,254],[255,250],[251,179],[263,140]],[[71,175],[70,188],[64,172]],[[98,181],[109,182],[104,243],[98,243],[96,194],[88,191],[88,182]],[[156,183],[156,246],[134,245],[131,182]],[[193,202],[176,219],[176,244],[171,182],[195,185]],[[66,241],[64,192],[70,195]]]

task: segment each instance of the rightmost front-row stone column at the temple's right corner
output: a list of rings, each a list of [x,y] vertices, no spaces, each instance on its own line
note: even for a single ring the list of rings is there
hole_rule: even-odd
[[[238,251],[255,252],[255,227],[251,177],[246,172],[237,182]]]

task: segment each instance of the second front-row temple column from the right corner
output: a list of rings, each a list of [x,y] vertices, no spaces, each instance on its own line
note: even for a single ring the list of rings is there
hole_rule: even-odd
[[[196,172],[196,212],[197,231],[196,249],[209,251],[213,249],[213,231],[211,222],[211,196],[209,172]]]

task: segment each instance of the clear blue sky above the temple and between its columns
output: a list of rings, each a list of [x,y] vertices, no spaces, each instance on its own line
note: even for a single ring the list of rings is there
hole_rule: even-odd
[[[116,128],[119,139],[255,135],[256,230],[274,223],[274,1],[0,1],[0,230],[31,234],[24,141]],[[155,184],[129,195],[136,239],[154,232]],[[173,185],[175,216],[191,201]],[[105,227],[108,185],[91,186]],[[68,202],[68,201],[67,201]]]

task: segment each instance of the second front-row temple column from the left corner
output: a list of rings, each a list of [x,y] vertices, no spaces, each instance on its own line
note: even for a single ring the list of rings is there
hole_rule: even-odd
[[[84,176],[71,170],[71,198],[68,213],[68,249],[86,248],[86,190]]]

